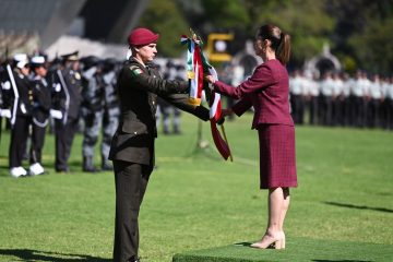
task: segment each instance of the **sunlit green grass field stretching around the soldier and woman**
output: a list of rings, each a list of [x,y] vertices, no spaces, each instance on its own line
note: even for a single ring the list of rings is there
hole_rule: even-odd
[[[169,262],[175,254],[179,262],[393,260],[393,132],[382,130],[296,128],[299,187],[291,190],[287,249],[235,245],[259,239],[266,223],[250,126],[251,115],[225,123],[234,163],[221,159],[207,123],[210,147],[195,146],[198,121],[190,116],[182,117],[182,135],[159,135],[158,168],[140,217],[144,262]],[[9,134],[2,133],[0,261],[110,261],[114,175],[83,174],[81,142],[79,135],[72,174],[53,171],[48,135],[44,164],[50,174],[13,179]]]

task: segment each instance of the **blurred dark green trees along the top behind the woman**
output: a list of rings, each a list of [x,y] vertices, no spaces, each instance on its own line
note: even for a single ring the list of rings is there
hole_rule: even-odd
[[[340,58],[346,72],[393,71],[393,0],[151,0],[140,25],[162,33],[159,52],[181,53],[179,35],[192,27],[234,33],[240,49],[259,25],[273,23],[291,35],[291,67],[320,53],[323,44]]]

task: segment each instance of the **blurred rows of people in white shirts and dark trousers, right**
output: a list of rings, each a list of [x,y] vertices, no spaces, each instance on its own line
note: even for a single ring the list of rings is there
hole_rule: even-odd
[[[393,78],[326,72],[322,78],[295,71],[289,80],[295,123],[393,129]]]

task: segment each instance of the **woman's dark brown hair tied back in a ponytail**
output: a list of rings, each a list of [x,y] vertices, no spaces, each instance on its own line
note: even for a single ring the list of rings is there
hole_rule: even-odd
[[[277,59],[282,64],[289,61],[290,56],[290,36],[283,33],[277,26],[266,24],[262,25],[257,33],[257,37],[262,40],[269,39],[272,41],[272,49],[275,50]]]

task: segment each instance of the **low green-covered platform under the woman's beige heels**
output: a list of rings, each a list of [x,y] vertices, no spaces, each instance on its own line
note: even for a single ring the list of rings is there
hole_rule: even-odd
[[[393,261],[393,246],[289,238],[285,250],[253,249],[250,242],[175,254],[174,262]]]

